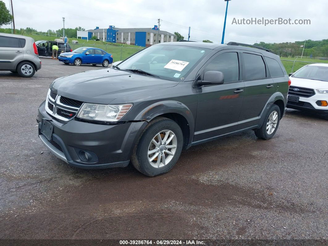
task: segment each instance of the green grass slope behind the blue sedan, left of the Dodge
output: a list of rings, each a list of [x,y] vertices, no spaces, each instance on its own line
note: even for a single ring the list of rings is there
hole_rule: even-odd
[[[48,40],[54,41],[56,37],[54,36],[45,36],[45,35],[24,35],[28,37],[34,38],[35,41],[37,40]],[[72,40],[79,41],[78,44],[72,44]],[[87,41],[85,39],[78,39],[78,38],[69,38],[69,44],[72,50],[75,50],[79,47],[94,47],[102,49],[110,54],[113,55],[113,61],[120,61],[124,60],[125,58],[132,56],[134,53],[138,52],[144,47],[135,46],[135,45],[128,45],[128,44],[119,44],[119,43],[109,43],[103,41]]]

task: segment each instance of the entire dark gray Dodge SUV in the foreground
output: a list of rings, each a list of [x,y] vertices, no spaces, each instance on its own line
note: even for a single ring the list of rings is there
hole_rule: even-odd
[[[240,44],[153,45],[110,69],[58,78],[39,107],[39,137],[79,168],[168,172],[181,150],[254,130],[272,138],[289,78],[277,55]]]

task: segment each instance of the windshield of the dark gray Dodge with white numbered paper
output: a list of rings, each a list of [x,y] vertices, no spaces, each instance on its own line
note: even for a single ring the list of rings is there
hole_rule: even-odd
[[[181,45],[154,45],[118,65],[122,70],[142,70],[159,78],[184,78],[211,50]]]

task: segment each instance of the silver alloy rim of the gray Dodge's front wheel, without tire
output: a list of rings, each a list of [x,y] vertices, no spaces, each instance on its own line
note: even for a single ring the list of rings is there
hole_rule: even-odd
[[[154,168],[166,166],[174,157],[177,147],[177,138],[173,131],[158,132],[148,147],[148,161]]]

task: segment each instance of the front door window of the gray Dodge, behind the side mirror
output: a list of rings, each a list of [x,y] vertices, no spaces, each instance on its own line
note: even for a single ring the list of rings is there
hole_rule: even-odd
[[[205,68],[206,71],[223,73],[224,82],[239,80],[239,61],[236,52],[227,52],[216,56]]]

